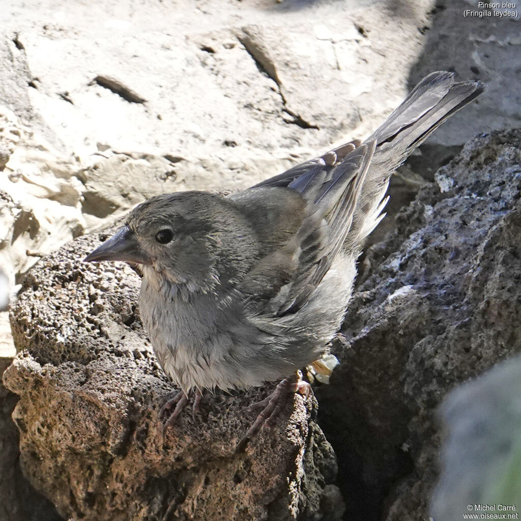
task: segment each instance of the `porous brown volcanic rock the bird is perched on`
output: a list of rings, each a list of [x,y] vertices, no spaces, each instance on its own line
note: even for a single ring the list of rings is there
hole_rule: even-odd
[[[20,353],[6,386],[20,463],[61,515],[82,519],[338,519],[336,462],[301,396],[245,453],[234,449],[266,390],[217,393],[162,438],[172,392],[136,309],[139,277],[126,264],[91,266],[97,234],[32,268],[12,307]]]

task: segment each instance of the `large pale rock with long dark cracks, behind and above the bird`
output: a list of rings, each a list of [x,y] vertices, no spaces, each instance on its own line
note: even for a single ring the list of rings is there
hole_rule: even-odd
[[[277,155],[369,132],[406,92],[430,4],[407,17],[354,0],[74,4],[74,17],[57,3],[33,19],[8,0],[6,11],[38,78],[31,104],[68,151],[204,157],[231,142]]]

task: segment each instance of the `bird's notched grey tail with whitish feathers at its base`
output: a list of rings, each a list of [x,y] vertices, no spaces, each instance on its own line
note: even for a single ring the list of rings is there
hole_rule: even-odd
[[[446,119],[485,90],[477,81],[455,82],[452,72],[432,72],[368,138],[377,146],[358,198],[349,239],[361,241],[378,225],[392,172]]]

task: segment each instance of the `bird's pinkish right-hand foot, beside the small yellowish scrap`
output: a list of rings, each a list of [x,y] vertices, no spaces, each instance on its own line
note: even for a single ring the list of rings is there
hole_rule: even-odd
[[[307,398],[311,392],[311,386],[309,383],[301,379],[300,371],[299,374],[282,380],[275,390],[267,396],[267,398],[250,405],[247,408],[247,411],[253,411],[259,408],[262,408],[262,411],[259,413],[257,419],[253,422],[246,434],[242,437],[241,441],[237,445],[236,451],[242,452],[246,448],[248,442],[257,435],[259,430],[261,430],[263,425],[266,427],[273,427],[275,425],[275,420],[279,416],[282,407],[286,404],[288,397],[296,392],[303,394],[305,398]]]

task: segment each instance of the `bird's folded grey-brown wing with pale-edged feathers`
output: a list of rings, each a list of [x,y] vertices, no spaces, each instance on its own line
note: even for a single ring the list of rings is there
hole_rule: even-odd
[[[286,187],[306,202],[293,237],[259,259],[244,281],[246,293],[253,296],[261,291],[269,297],[277,316],[295,313],[309,300],[340,252],[375,144],[372,140],[343,145],[253,187]]]

